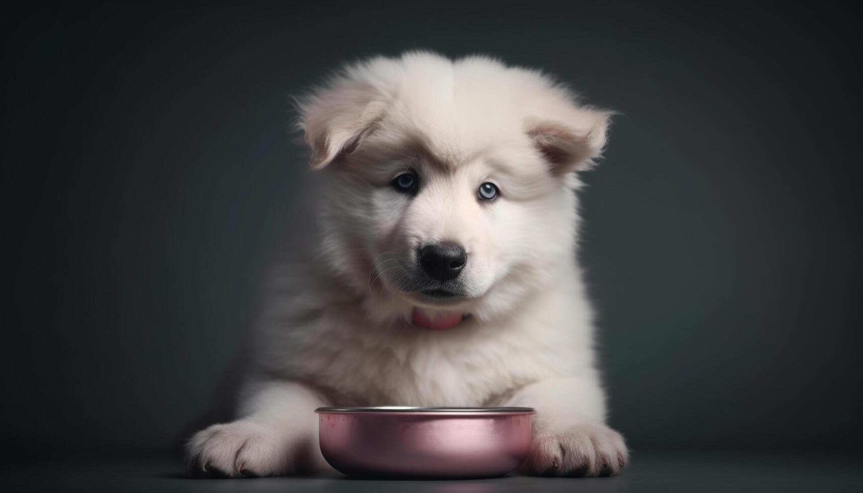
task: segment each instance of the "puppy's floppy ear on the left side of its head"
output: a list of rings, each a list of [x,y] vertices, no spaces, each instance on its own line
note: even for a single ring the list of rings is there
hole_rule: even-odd
[[[338,78],[298,101],[299,128],[321,169],[359,147],[384,111],[380,92],[368,83]]]

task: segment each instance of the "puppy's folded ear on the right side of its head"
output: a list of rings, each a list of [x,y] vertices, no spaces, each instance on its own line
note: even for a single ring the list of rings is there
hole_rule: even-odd
[[[589,169],[605,147],[613,113],[576,106],[554,113],[528,120],[527,135],[533,145],[555,176]]]

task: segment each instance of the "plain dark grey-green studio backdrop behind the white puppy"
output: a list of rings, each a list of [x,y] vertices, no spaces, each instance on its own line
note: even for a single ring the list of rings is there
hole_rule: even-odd
[[[856,12],[5,4],[3,446],[167,451],[224,418],[261,275],[307,217],[288,96],[422,47],[543,67],[620,111],[580,255],[636,452],[859,448]]]

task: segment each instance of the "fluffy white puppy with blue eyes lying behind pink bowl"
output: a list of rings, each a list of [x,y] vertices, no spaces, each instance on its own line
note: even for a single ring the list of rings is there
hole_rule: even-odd
[[[526,406],[526,471],[619,471],[576,265],[576,172],[610,113],[538,71],[430,53],[348,66],[299,108],[318,255],[274,275],[239,419],[195,434],[190,466],[327,467],[321,406]]]

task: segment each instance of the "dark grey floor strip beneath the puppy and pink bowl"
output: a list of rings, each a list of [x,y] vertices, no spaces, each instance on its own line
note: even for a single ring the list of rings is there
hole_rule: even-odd
[[[197,479],[172,456],[3,462],[12,491],[218,491],[487,493],[494,491],[863,491],[863,460],[842,453],[636,452],[618,477],[507,476],[476,480],[318,477]]]

